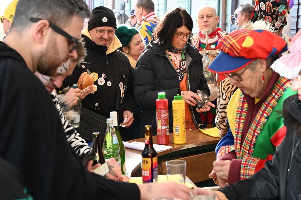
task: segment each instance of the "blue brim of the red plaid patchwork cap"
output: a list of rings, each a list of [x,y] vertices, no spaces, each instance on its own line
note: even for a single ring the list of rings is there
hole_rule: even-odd
[[[221,51],[213,62],[208,66],[210,72],[217,74],[235,72],[244,68],[255,59],[247,59],[244,57],[233,57]]]

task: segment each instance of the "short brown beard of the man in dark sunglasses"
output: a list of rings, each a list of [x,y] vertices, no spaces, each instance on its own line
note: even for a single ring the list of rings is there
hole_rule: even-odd
[[[49,37],[47,48],[42,52],[37,63],[37,71],[46,76],[54,76],[57,68],[61,66],[59,51],[57,48],[56,37],[54,34]]]

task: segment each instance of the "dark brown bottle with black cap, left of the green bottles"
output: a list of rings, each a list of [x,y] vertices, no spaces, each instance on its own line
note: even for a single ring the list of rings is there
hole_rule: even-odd
[[[106,161],[104,160],[104,153],[102,152],[101,145],[100,145],[99,132],[94,132],[93,135],[94,135],[94,138],[92,140],[89,155],[90,156],[95,155],[93,165],[96,165],[97,163],[100,163],[102,165]]]

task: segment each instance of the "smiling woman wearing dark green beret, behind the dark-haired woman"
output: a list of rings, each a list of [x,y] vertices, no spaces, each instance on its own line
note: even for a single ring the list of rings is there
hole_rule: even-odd
[[[122,44],[122,47],[120,47],[118,50],[126,54],[126,57],[128,57],[134,73],[137,60],[145,49],[144,40],[135,27],[126,26],[123,24],[117,27],[115,35]],[[132,125],[126,129],[126,135],[125,138],[123,138],[124,141],[134,140],[138,138],[138,130],[140,126],[140,111],[141,108],[138,108],[139,116],[135,118]]]

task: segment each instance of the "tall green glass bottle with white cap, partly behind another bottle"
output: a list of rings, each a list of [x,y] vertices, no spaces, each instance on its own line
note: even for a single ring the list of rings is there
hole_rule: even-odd
[[[118,115],[117,115],[117,112],[116,111],[112,111],[110,112],[110,118],[113,119],[113,126],[114,126],[114,131],[115,131],[115,134],[117,136],[117,139],[118,139],[118,143],[119,143],[119,155],[120,155],[120,158],[121,158],[121,172],[123,175],[126,175],[126,151],[124,149],[124,145],[123,145],[123,142],[122,142],[122,138],[121,138],[121,135],[119,133],[119,130],[118,130]]]

